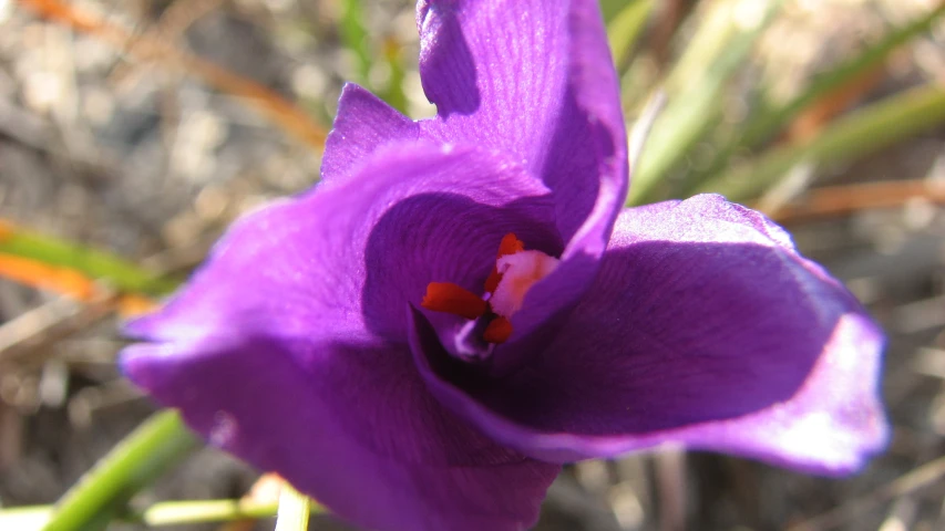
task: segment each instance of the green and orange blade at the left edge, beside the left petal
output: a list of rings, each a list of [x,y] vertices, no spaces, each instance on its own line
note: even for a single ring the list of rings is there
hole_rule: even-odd
[[[34,263],[30,266],[29,261]],[[20,266],[23,274],[30,273],[30,267],[40,268],[34,272],[49,282],[58,279],[55,285],[79,299],[92,293],[90,278],[104,280],[122,292],[153,296],[170,293],[178,284],[113,254],[0,221],[0,270],[6,270],[3,266],[11,272]]]

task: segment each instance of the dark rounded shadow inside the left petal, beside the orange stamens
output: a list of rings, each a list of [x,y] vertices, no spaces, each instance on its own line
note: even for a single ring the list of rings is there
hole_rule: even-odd
[[[503,206],[453,194],[421,194],[399,201],[377,221],[364,251],[361,309],[368,329],[402,342],[403,309],[419,305],[430,282],[452,282],[483,293],[499,242],[510,232],[531,249],[559,254],[553,216],[548,196],[518,198]],[[452,315],[433,319],[441,326],[462,322]]]

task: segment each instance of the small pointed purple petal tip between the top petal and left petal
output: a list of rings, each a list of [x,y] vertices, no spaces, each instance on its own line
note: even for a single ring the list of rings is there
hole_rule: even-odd
[[[417,123],[368,90],[348,83],[338,101],[338,115],[321,160],[321,180],[335,184],[352,175],[381,147],[418,140]]]

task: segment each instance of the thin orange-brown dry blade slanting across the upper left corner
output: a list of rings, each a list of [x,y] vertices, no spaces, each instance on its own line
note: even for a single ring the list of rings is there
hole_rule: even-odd
[[[136,53],[145,59],[156,59],[168,66],[183,67],[220,92],[248,102],[285,132],[295,135],[316,150],[321,152],[325,148],[327,132],[323,127],[312,122],[308,114],[295,104],[255,81],[176,50],[158,37],[132,35],[130,31],[119,25],[58,0],[19,0],[19,3],[47,19],[64,23],[76,31],[96,35],[129,53]]]

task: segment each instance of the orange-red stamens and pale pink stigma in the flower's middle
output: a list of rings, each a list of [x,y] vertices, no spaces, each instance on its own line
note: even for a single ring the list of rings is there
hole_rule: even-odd
[[[512,315],[522,309],[525,294],[557,268],[558,260],[542,251],[525,250],[513,233],[499,243],[495,267],[485,280],[482,296],[452,282],[430,282],[421,306],[476,321],[482,340],[504,343],[512,335]]]

